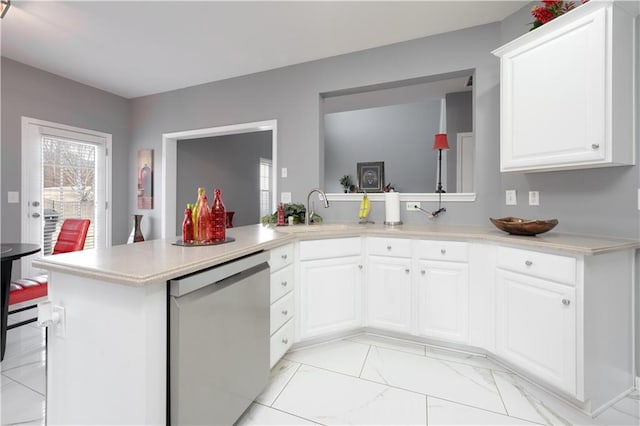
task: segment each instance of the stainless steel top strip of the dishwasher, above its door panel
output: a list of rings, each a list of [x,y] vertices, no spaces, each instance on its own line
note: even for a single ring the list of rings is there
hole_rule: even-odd
[[[268,263],[268,261],[269,252],[261,251],[209,269],[185,275],[184,277],[169,280],[169,295],[173,297],[184,296],[185,294],[223,281],[262,263]]]

